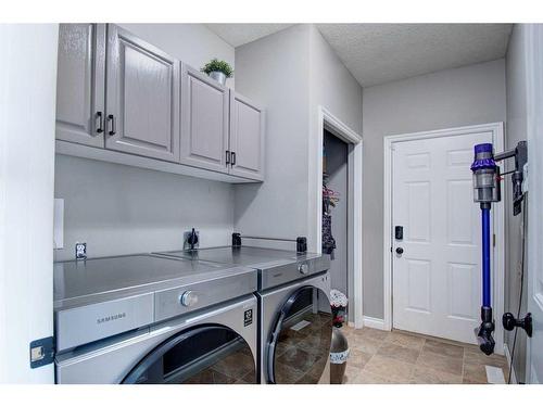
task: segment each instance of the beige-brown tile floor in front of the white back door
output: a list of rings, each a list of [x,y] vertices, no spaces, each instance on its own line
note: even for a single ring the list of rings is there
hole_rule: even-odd
[[[476,345],[403,331],[343,327],[351,354],[344,384],[483,384],[485,365],[501,368],[504,356],[485,356]]]

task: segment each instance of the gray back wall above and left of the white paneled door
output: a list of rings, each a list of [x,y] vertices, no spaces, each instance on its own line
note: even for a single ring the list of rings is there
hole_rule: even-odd
[[[383,318],[383,137],[505,122],[505,62],[364,88],[364,315]]]

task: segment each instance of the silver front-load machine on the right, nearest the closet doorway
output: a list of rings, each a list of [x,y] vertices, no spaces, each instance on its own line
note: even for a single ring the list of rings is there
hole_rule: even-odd
[[[161,255],[257,270],[260,382],[330,383],[329,256],[236,242]]]

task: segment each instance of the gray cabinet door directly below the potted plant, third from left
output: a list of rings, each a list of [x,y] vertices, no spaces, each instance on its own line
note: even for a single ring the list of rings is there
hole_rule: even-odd
[[[228,173],[228,89],[182,66],[181,164]]]

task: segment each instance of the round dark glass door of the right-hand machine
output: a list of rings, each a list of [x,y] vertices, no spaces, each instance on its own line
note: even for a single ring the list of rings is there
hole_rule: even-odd
[[[268,343],[268,383],[318,383],[330,357],[331,339],[328,295],[315,287],[295,291],[282,306]]]

